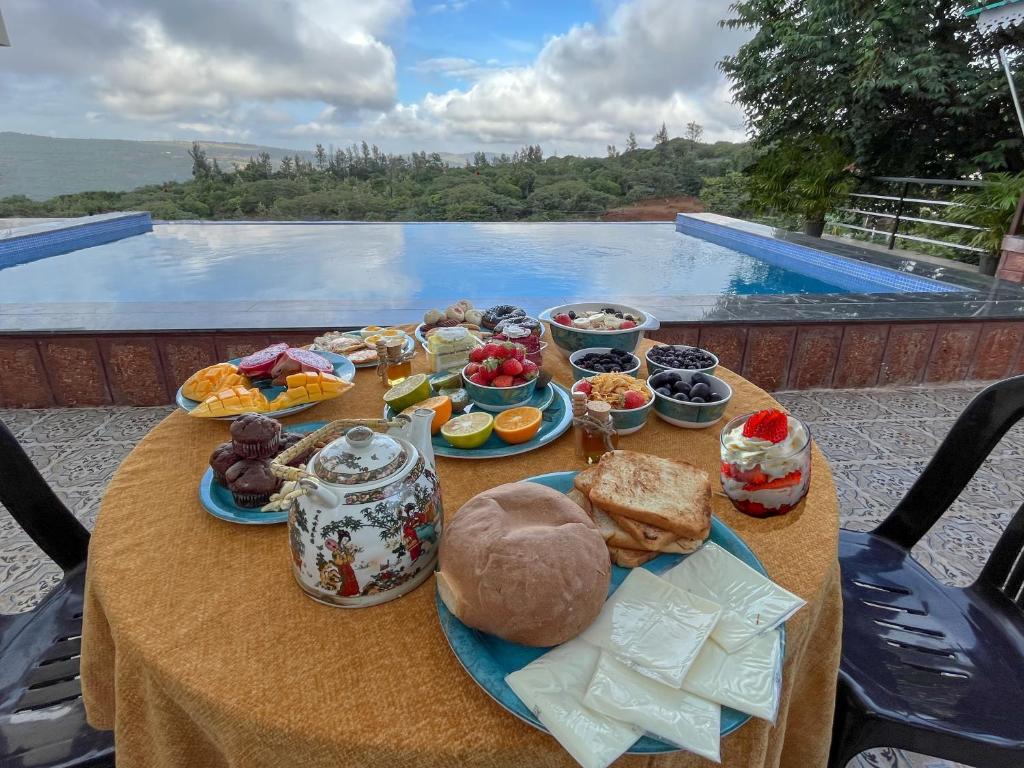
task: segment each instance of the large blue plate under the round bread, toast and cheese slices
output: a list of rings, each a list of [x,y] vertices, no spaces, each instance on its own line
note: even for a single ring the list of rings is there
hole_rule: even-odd
[[[572,478],[575,472],[552,472],[546,475],[526,478],[527,482],[537,482],[547,485],[562,494],[567,494],[572,489]],[[735,555],[744,563],[760,573],[767,575],[764,566],[750,547],[736,536],[728,525],[717,518],[711,521],[711,537],[709,541],[715,542],[722,549]],[[664,573],[669,568],[680,563],[686,555],[659,555],[650,562],[642,565],[652,573]],[[608,596],[618,589],[618,585],[629,575],[630,568],[622,568],[617,565],[611,566],[611,585],[608,587]],[[469,673],[477,685],[494,698],[504,709],[515,715],[520,720],[529,723],[535,728],[547,733],[537,716],[521,701],[515,692],[505,682],[505,676],[517,670],[521,670],[534,659],[544,655],[549,648],[531,648],[526,645],[510,643],[501,638],[488,635],[477,630],[470,629],[447,609],[440,597],[435,594],[434,601],[437,604],[437,615],[440,621],[441,631],[447,639],[452,651],[455,653],[459,664]],[[782,655],[780,664],[785,659],[785,627],[780,629],[782,635]],[[781,674],[781,670],[779,670]],[[728,707],[722,708],[722,735],[726,736],[743,725],[751,719],[750,715],[736,712]],[[643,736],[629,750],[631,755],[657,755],[669,752],[679,752],[678,746],[673,746],[660,739],[651,736]]]

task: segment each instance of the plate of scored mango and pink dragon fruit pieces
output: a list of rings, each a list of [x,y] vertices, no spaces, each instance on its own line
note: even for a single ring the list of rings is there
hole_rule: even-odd
[[[276,418],[340,396],[352,387],[354,376],[347,357],[279,343],[197,371],[178,388],[175,401],[197,418]]]

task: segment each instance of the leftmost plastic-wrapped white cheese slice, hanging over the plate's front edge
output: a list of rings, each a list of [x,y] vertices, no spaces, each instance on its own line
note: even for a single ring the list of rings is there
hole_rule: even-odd
[[[549,650],[505,682],[584,768],[605,768],[643,730],[583,703],[600,651],[580,639]]]

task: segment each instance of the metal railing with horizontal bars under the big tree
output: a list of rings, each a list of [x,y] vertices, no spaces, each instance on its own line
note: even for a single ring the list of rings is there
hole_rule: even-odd
[[[929,209],[950,208],[959,206],[950,200],[941,198],[910,197],[911,187],[918,186],[924,189],[930,187],[980,187],[984,186],[983,181],[971,181],[965,179],[931,179],[912,178],[906,176],[873,176],[870,179],[879,186],[898,185],[898,195],[877,195],[871,193],[851,193],[853,201],[850,206],[839,208],[842,213],[860,217],[859,223],[854,224],[849,221],[829,220],[828,224],[842,229],[866,232],[870,238],[881,236],[886,238],[886,247],[891,251],[896,246],[897,240],[906,240],[913,243],[927,243],[932,246],[951,248],[956,251],[967,251],[970,253],[988,253],[984,248],[968,246],[956,241],[938,240],[928,238],[924,234],[915,234],[911,231],[900,231],[900,225],[907,222],[911,224],[925,224],[929,226],[946,227],[948,229],[968,229],[973,231],[983,231],[985,227],[974,224],[961,223],[958,221],[947,221],[943,218],[929,216]],[[857,201],[870,201],[862,205],[857,205]],[[876,205],[880,208],[867,208],[868,205]],[[885,209],[889,210],[885,210]],[[916,213],[918,215],[908,215]]]

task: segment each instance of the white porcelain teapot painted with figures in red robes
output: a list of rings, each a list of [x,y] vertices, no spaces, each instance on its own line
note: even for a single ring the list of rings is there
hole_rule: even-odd
[[[292,570],[314,600],[378,605],[430,577],[443,518],[433,416],[331,422],[271,463],[287,480],[272,502],[288,509]],[[304,467],[288,466],[311,451]]]

